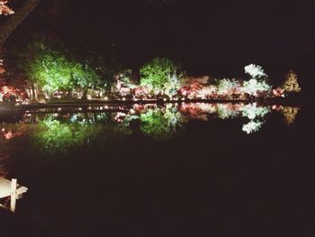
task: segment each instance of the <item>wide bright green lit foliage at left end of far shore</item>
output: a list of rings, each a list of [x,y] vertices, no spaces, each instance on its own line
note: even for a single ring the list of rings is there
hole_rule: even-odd
[[[24,58],[22,68],[31,82],[50,95],[57,90],[86,89],[101,81],[101,77],[90,65],[70,59],[66,53],[53,49],[45,42],[30,44],[29,52]]]

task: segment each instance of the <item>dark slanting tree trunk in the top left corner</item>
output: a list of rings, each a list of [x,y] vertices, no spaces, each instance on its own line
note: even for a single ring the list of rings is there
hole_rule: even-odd
[[[40,3],[40,0],[27,0],[25,4],[15,11],[7,21],[0,27],[0,48],[4,42],[10,37],[14,30],[23,23],[24,19],[31,14],[32,10]]]

